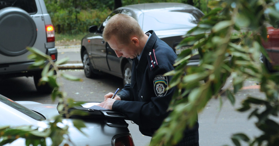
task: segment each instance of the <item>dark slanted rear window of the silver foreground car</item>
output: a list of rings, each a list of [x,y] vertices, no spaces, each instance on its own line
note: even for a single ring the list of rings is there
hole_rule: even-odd
[[[30,116],[31,118],[37,120],[37,121],[43,121],[45,118],[41,116],[40,114],[30,110],[29,108],[26,108],[22,106],[19,103],[14,102],[13,100],[6,98],[5,96],[0,94],[0,102],[7,104],[10,107],[13,107],[14,109],[24,113],[27,116]]]

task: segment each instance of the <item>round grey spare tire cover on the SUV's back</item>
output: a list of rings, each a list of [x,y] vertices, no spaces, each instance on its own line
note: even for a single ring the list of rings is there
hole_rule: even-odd
[[[0,10],[0,53],[19,56],[32,47],[37,38],[36,24],[30,15],[17,7]]]

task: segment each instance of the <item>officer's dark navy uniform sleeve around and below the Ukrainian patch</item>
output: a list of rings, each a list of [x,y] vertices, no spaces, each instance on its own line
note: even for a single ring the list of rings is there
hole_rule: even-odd
[[[156,71],[152,71],[152,75],[149,77],[150,84],[148,86],[151,88],[154,86],[153,79],[155,76],[163,75],[172,69],[173,68],[170,66],[158,66]],[[166,77],[168,78],[168,81],[170,81],[171,77]],[[166,94],[163,94],[161,97],[157,97],[154,94],[154,89],[149,89],[149,91],[153,93],[153,97],[150,98],[149,102],[115,101],[112,109],[126,114],[133,122],[142,128],[157,129],[160,127],[164,118],[168,115],[167,109],[169,107],[174,88],[167,90]]]

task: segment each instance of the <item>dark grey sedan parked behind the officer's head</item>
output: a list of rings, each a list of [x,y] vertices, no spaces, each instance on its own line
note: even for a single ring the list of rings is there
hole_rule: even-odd
[[[175,46],[183,39],[182,36],[195,27],[204,16],[203,12],[196,7],[183,3],[143,3],[117,8],[101,26],[90,26],[90,33],[81,41],[80,55],[85,76],[88,78],[94,78],[98,73],[106,72],[123,78],[123,84],[131,82],[131,59],[118,58],[102,37],[107,21],[118,13],[135,18],[144,32],[154,30],[157,36],[169,44],[177,54],[183,49],[175,49]],[[199,57],[192,57],[189,64],[197,65],[198,59]]]

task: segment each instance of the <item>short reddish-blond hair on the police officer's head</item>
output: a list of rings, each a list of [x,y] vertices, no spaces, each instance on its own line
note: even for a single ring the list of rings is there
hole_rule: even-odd
[[[143,37],[144,33],[138,22],[126,14],[115,14],[107,22],[103,39],[107,42],[112,35],[115,35],[119,43],[127,44],[131,36]]]

